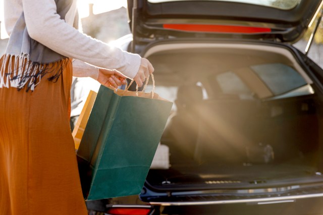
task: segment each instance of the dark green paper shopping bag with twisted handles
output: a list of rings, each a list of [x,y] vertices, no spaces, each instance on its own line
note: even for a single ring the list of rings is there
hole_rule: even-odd
[[[77,151],[84,198],[141,192],[172,102],[101,85]]]

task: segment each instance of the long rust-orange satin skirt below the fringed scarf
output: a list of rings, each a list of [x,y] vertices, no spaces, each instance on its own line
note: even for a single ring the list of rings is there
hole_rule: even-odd
[[[0,88],[0,215],[87,214],[69,124],[72,62],[64,61],[57,82],[46,74],[32,92]]]

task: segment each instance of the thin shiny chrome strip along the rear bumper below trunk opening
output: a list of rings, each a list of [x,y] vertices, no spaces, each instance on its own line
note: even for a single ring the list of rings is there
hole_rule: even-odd
[[[279,196],[279,197],[267,197],[267,198],[254,198],[254,199],[238,199],[238,200],[220,200],[220,201],[195,201],[195,202],[149,202],[151,205],[160,206],[182,206],[182,205],[209,205],[209,204],[233,204],[233,203],[250,203],[250,202],[273,202],[273,201],[285,201],[296,200],[304,198],[323,197],[323,193],[297,195],[297,196]]]

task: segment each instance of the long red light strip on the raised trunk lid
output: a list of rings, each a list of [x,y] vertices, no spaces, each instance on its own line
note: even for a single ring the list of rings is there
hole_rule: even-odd
[[[270,28],[234,26],[234,25],[198,25],[198,24],[164,24],[163,28],[194,32],[218,32],[218,33],[268,33]]]

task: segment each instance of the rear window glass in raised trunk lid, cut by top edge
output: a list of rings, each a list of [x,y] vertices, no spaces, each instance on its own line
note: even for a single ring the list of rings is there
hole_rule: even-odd
[[[148,2],[150,3],[179,2],[179,1],[190,1],[190,0],[148,0]],[[281,10],[290,10],[295,6],[297,6],[300,2],[300,0],[208,0],[208,1],[245,3],[245,4],[278,8]]]

